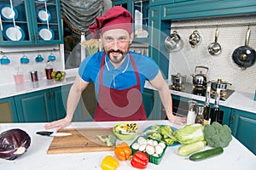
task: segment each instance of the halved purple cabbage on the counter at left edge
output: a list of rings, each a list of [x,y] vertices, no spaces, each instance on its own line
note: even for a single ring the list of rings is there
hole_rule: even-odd
[[[15,160],[23,155],[31,144],[30,136],[19,128],[0,134],[0,158]]]

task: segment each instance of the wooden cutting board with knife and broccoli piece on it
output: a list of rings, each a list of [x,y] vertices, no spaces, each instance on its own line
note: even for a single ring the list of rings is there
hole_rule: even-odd
[[[70,136],[54,137],[47,154],[67,154],[93,151],[113,150],[113,146],[107,146],[104,142],[96,137],[102,135],[106,138],[113,134],[111,127],[83,127],[61,129],[59,133],[72,133]]]

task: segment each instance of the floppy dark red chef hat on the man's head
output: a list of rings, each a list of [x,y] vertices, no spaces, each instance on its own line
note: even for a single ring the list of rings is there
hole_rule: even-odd
[[[121,6],[108,9],[106,14],[96,17],[96,22],[89,26],[92,38],[99,39],[100,34],[111,29],[124,29],[130,34],[132,32],[131,13]]]

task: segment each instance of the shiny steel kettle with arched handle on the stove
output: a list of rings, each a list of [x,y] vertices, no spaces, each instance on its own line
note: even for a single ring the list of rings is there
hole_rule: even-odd
[[[203,73],[202,71],[199,71],[197,73],[198,69],[204,69],[206,70],[206,73]],[[193,77],[193,84],[197,87],[207,87],[207,72],[208,72],[208,67],[206,66],[195,66],[195,74],[190,74],[191,77]]]

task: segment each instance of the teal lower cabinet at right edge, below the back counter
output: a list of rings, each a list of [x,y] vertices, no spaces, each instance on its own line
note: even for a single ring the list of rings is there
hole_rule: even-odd
[[[232,109],[232,135],[256,155],[256,114]]]

